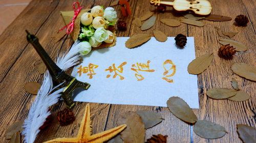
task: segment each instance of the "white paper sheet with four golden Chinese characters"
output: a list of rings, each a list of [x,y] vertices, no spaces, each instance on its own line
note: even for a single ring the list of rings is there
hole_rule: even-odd
[[[87,91],[76,91],[74,101],[166,107],[169,97],[178,96],[191,108],[199,108],[197,75],[187,72],[195,59],[194,37],[187,37],[183,49],[174,37],[165,42],[152,37],[132,49],[125,47],[127,39],[118,37],[114,47],[94,50],[74,67],[72,76],[91,84]]]

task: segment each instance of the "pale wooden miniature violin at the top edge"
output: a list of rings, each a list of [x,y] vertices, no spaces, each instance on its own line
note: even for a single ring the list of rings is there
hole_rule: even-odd
[[[173,6],[177,11],[194,11],[195,14],[208,15],[211,12],[211,4],[206,0],[196,0],[193,2],[188,2],[186,0],[175,0],[174,2],[161,2],[161,0],[151,0],[151,5],[155,6]]]

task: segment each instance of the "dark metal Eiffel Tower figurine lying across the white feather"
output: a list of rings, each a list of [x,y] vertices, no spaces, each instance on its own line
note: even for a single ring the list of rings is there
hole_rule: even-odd
[[[77,88],[83,88],[85,90],[88,90],[90,87],[90,84],[87,82],[81,82],[78,81],[75,77],[68,75],[65,73],[62,69],[60,69],[50,58],[50,56],[47,54],[47,52],[42,48],[42,46],[39,43],[39,40],[34,35],[30,34],[27,30],[27,40],[29,43],[31,43],[37,53],[40,55],[42,61],[46,64],[47,69],[49,70],[49,73],[52,76],[54,85],[60,84],[62,82],[66,82],[67,86],[62,91],[62,98],[65,101],[68,108],[72,108],[75,103],[73,102],[72,94]]]

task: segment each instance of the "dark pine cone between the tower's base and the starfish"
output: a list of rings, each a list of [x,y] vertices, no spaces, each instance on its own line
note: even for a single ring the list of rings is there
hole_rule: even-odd
[[[75,116],[72,110],[65,108],[58,112],[57,120],[60,126],[67,126],[75,121]]]

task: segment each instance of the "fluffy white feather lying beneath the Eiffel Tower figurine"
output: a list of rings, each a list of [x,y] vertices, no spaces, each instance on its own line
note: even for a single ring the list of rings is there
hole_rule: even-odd
[[[62,70],[67,70],[78,64],[80,51],[81,46],[79,42],[76,41],[69,52],[66,51],[62,56],[58,56],[56,62],[57,66]],[[35,141],[36,136],[40,131],[39,127],[44,124],[46,118],[51,114],[51,112],[48,111],[49,107],[58,102],[63,88],[51,93],[55,88],[53,88],[52,77],[49,74],[49,71],[47,71],[35,101],[30,107],[28,118],[24,122],[23,127],[25,129],[22,132],[22,134],[25,135],[24,142],[33,143]]]

